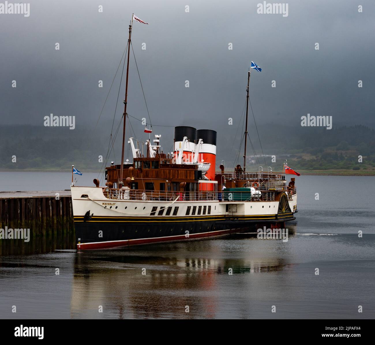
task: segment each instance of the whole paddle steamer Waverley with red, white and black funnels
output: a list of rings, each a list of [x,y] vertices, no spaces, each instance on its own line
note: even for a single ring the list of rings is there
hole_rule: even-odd
[[[126,91],[121,162],[124,162],[127,84],[132,25],[127,48]],[[248,71],[247,103],[249,102]],[[105,168],[107,182],[93,187],[72,185],[78,249],[100,249],[160,241],[217,236],[251,226],[279,226],[294,220],[297,191],[283,172],[248,172],[246,139],[243,167],[216,167],[216,132],[175,127],[174,150],[163,153],[160,136],[135,148],[133,163]],[[263,169],[262,169],[263,170]],[[224,188],[225,187],[225,188]]]

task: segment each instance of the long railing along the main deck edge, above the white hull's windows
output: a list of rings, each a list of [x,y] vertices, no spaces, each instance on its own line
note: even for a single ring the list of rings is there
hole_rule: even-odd
[[[129,188],[103,188],[107,199],[153,201],[218,200],[217,191],[154,191]]]

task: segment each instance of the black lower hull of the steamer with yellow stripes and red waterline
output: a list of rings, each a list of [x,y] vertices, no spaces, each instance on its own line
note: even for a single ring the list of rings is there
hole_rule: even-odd
[[[216,218],[216,219],[213,219]],[[293,213],[270,216],[206,217],[75,217],[78,249],[99,249],[162,241],[184,241],[228,234],[257,224],[294,220]],[[126,220],[125,220],[126,219]]]

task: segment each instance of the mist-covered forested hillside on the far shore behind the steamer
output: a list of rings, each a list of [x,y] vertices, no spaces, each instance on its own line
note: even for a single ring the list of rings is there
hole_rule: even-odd
[[[352,169],[357,166],[359,155],[363,156],[363,163],[370,166],[375,164],[375,131],[370,127],[356,125],[327,130],[317,127],[267,125],[259,127],[258,130],[264,154],[279,157],[290,155],[296,169]],[[81,170],[98,171],[103,165],[99,156],[103,156],[105,161],[108,148],[112,146],[109,142],[109,133],[101,129],[94,131],[89,128],[77,127],[69,130],[69,128],[50,127],[46,130],[45,127],[10,125],[0,126],[0,134],[1,170],[69,171],[74,164]],[[254,151],[256,154],[261,154],[257,133],[251,126],[249,136]],[[221,160],[225,160],[228,168],[233,167],[234,164],[242,164],[243,144],[239,151],[241,137],[241,134],[232,137],[230,133],[228,135],[227,132],[218,131],[217,166]],[[173,131],[168,128],[168,132],[163,133],[161,139],[164,151],[170,152],[173,145]],[[120,140],[118,136],[114,143],[115,154],[112,151],[108,162],[120,161]],[[248,143],[248,156],[254,155],[254,151]],[[240,154],[236,160],[238,152]],[[14,155],[16,162],[12,162]],[[125,158],[132,160],[127,146]],[[271,162],[267,161],[268,163]],[[282,166],[281,159],[276,163]],[[275,164],[272,166],[274,167]]]

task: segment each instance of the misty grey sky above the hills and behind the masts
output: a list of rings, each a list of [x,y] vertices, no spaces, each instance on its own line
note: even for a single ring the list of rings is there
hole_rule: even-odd
[[[78,127],[95,124],[126,47],[132,12],[150,23],[133,23],[132,43],[153,124],[234,135],[251,60],[263,68],[252,71],[250,88],[260,124],[297,126],[307,113],[332,115],[334,127],[374,124],[374,2],[289,1],[288,17],[257,14],[258,3],[32,0],[30,17],[1,14],[2,124],[43,125],[50,113],[75,115]],[[143,42],[146,50],[141,50]],[[106,134],[118,81],[100,121]],[[116,122],[123,97],[124,82]],[[128,97],[128,113],[147,118],[132,56]],[[228,117],[234,119],[231,127]],[[140,123],[133,127],[142,132]],[[156,132],[169,136],[172,128]]]

